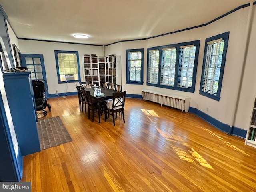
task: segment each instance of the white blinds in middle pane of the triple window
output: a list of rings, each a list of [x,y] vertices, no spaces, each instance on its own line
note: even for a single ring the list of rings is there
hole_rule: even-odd
[[[162,49],[161,85],[174,86],[176,48]]]

